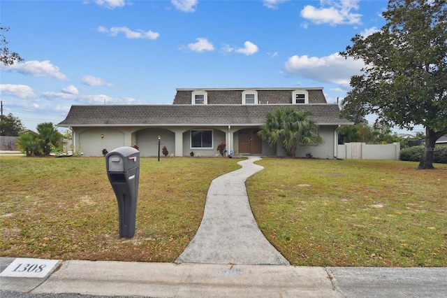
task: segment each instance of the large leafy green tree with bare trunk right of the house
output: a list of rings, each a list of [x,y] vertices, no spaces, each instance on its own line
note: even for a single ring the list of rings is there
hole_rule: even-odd
[[[340,52],[365,62],[351,78],[342,115],[375,113],[378,122],[400,129],[423,125],[418,169],[432,169],[435,142],[447,133],[446,0],[390,0],[382,15],[387,22],[380,31],[357,34]]]

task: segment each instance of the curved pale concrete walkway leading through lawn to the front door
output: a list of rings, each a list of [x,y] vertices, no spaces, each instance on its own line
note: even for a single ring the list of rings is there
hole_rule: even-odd
[[[290,265],[258,228],[251,212],[245,180],[261,171],[249,157],[241,169],[212,180],[202,222],[177,263]]]

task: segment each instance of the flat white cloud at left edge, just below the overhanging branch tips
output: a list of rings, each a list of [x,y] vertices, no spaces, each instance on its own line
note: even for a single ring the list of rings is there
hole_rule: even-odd
[[[13,65],[4,66],[3,63],[0,68],[6,71],[15,70],[19,73],[31,75],[31,76],[47,76],[50,78],[56,78],[57,80],[68,80],[68,78],[59,71],[59,67],[54,66],[49,60],[36,61],[31,60],[24,63],[15,63]]]

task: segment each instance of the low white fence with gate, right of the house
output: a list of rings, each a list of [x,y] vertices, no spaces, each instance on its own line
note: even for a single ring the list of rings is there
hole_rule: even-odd
[[[367,143],[345,143],[339,145],[338,158],[346,159],[389,159],[398,160],[400,143],[392,144],[367,144]]]

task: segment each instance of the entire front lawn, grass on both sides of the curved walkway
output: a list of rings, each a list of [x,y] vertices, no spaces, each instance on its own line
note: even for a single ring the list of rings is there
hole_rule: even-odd
[[[120,239],[104,158],[0,157],[0,256],[173,262],[200,225],[211,180],[238,160],[142,158],[135,236]],[[447,165],[257,163],[251,208],[291,264],[447,266]]]

